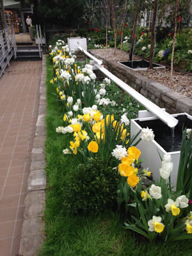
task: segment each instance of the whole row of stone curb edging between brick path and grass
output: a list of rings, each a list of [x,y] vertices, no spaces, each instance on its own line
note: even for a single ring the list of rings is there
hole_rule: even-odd
[[[46,102],[46,56],[42,56],[42,75],[40,82],[40,106],[36,122],[36,133],[31,152],[31,168],[28,178],[28,191],[24,202],[24,222],[22,226],[19,256],[35,256],[36,250],[44,242],[45,223],[42,220],[45,210],[45,115]]]

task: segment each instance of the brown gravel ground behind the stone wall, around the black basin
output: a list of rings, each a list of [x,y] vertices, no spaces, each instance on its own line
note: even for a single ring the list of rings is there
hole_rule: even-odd
[[[109,58],[109,60],[114,61],[127,61],[129,60],[129,53],[122,51],[122,55],[120,56],[120,50],[110,48],[110,49],[98,49],[95,50],[98,54]],[[143,60],[143,58],[139,56],[133,56],[133,60]],[[160,63],[159,63],[160,64]],[[176,67],[177,68],[177,67]],[[163,84],[164,86],[174,90],[175,92],[179,92],[184,94],[186,97],[192,99],[192,73],[182,72],[173,70],[173,78],[170,78],[170,68],[159,68],[153,70],[137,70],[136,72],[140,73],[142,76],[148,77],[158,83]]]

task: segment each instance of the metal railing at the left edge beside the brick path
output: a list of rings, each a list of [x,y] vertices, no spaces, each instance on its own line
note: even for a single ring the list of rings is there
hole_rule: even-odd
[[[4,73],[4,69],[10,66],[11,58],[17,58],[17,46],[15,41],[15,33],[9,26],[0,31],[0,77]]]

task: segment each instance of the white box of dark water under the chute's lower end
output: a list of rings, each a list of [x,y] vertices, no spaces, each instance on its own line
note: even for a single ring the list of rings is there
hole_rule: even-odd
[[[145,115],[145,111],[144,112]],[[146,111],[146,114],[149,112]],[[142,113],[143,114],[143,113]],[[148,168],[149,172],[152,172],[154,180],[160,179],[159,168],[161,168],[161,159],[159,154],[163,158],[164,154],[170,154],[173,162],[173,172],[171,173],[171,182],[173,186],[177,183],[177,173],[179,168],[180,159],[180,144],[182,140],[182,125],[189,129],[192,128],[192,116],[187,113],[180,113],[172,115],[179,120],[179,123],[175,126],[175,137],[172,138],[171,128],[159,120],[156,116],[143,117],[131,120],[131,137],[134,136],[142,128],[149,128],[154,131],[155,140],[153,141],[140,141],[137,148],[141,151],[140,158],[148,159],[142,163],[143,168]],[[172,143],[175,142],[175,143]],[[159,153],[158,153],[159,152]]]

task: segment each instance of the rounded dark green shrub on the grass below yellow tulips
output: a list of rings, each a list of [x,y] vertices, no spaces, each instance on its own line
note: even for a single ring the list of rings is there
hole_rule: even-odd
[[[79,164],[66,179],[63,191],[68,212],[98,214],[116,204],[116,170],[101,159],[92,159],[90,164]]]

